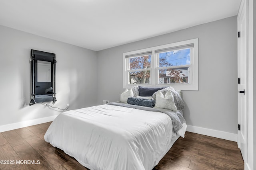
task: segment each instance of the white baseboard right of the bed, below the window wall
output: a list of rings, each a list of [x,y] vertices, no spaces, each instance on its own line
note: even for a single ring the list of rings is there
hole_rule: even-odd
[[[216,137],[220,139],[225,139],[229,141],[234,141],[237,142],[238,139],[238,134],[235,133],[229,133],[229,132],[224,132],[224,131],[216,131],[213,129],[206,129],[203,127],[196,127],[196,126],[191,126],[187,125],[187,130],[188,132],[193,132],[193,133],[198,133],[201,135],[207,135],[210,137]]]

